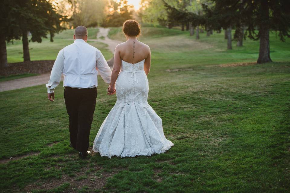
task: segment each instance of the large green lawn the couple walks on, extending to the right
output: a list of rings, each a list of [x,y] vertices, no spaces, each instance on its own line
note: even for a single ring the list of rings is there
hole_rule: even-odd
[[[151,29],[140,37],[152,51],[148,102],[175,146],[150,157],[82,160],[69,147],[62,83],[54,103],[44,85],[1,92],[0,159],[39,154],[1,163],[0,191],[289,192],[289,39],[271,35],[278,62],[221,67],[255,62],[259,42],[227,51],[223,33],[196,41],[187,32],[165,36],[165,28],[150,38]],[[116,101],[98,84],[90,147]]]

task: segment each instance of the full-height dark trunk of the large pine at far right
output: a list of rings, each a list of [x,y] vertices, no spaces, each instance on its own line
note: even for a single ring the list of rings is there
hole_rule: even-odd
[[[261,11],[263,22],[260,24],[259,33],[260,33],[260,49],[259,49],[259,58],[257,63],[262,64],[266,62],[272,62],[270,58],[270,42],[269,42],[269,5],[268,1],[261,1]]]

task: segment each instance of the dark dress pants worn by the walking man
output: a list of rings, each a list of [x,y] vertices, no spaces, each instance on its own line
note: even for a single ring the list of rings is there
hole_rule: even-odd
[[[69,115],[69,136],[72,147],[85,152],[89,148],[89,135],[98,95],[97,88],[65,87],[63,95]]]

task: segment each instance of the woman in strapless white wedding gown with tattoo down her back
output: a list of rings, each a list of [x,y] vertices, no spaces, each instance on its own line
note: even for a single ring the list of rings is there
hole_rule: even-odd
[[[165,138],[162,120],[147,102],[150,48],[137,40],[137,21],[125,21],[123,31],[127,41],[116,46],[108,87],[117,102],[101,125],[93,150],[109,158],[164,153],[174,144]]]

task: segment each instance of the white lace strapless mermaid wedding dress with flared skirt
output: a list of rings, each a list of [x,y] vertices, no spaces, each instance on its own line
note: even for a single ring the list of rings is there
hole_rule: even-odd
[[[117,102],[94,141],[93,150],[101,156],[150,156],[174,145],[165,138],[162,120],[147,102],[144,61],[132,64],[122,60],[115,85]]]

